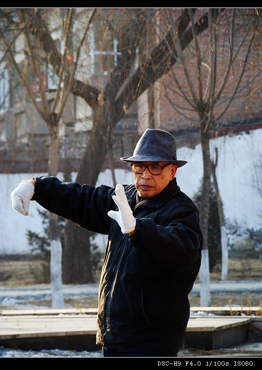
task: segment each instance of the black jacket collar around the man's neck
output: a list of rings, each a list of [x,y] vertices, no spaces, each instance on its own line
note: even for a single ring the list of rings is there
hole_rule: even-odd
[[[150,208],[157,208],[172,198],[179,191],[180,187],[177,185],[177,179],[174,178],[159,194],[143,202],[143,204]],[[126,197],[128,201],[133,204],[133,206],[136,203],[136,196],[137,190],[135,185],[131,185],[126,189]]]

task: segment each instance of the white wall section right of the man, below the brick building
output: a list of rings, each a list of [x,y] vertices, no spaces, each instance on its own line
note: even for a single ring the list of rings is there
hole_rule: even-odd
[[[255,167],[262,167],[262,129],[213,139],[210,143],[213,155],[216,147],[219,151],[216,175],[225,217],[243,222],[246,227],[262,227],[262,198],[254,186]],[[193,196],[203,176],[200,145],[195,150],[179,149],[178,159],[189,162],[177,172],[178,184]]]

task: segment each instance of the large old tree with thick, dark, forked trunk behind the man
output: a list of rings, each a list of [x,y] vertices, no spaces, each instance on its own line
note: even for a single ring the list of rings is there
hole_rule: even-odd
[[[59,75],[62,55],[52,38],[43,9],[35,12],[33,8],[21,8],[20,11],[26,21],[31,22],[31,34],[38,39],[48,63]],[[108,27],[115,30],[120,51],[117,64],[102,89],[90,82],[73,79],[71,92],[84,99],[93,112],[92,130],[76,178],[78,183],[96,184],[107,154],[109,138],[119,120],[144,91],[177,63],[176,38],[170,29],[170,16],[166,17],[166,11],[165,8],[109,9],[105,30]],[[192,11],[195,12],[195,8]],[[96,10],[93,19],[100,12],[101,8]],[[218,16],[216,9],[211,9],[209,15],[203,13],[195,23],[191,23],[189,9],[180,9],[179,12],[177,32],[181,50],[190,45],[193,35],[197,36],[208,28],[209,17],[214,20]],[[151,25],[150,33],[146,31],[146,21]],[[159,32],[160,23],[165,24],[163,32]],[[154,39],[152,43],[151,37]],[[64,268],[69,279],[66,282],[79,282],[82,276],[85,279],[82,282],[92,281],[90,274],[85,275],[88,270],[86,255],[89,253],[87,231],[68,221],[65,234]],[[73,268],[71,261],[77,261]],[[74,272],[74,276],[69,275],[71,272]]]

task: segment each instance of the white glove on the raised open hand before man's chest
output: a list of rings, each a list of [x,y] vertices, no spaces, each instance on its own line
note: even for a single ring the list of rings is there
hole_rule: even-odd
[[[123,234],[127,234],[134,231],[136,227],[136,219],[133,216],[133,212],[128,204],[124,187],[122,185],[116,185],[116,195],[113,195],[113,200],[118,206],[118,211],[109,211],[107,214],[118,222],[121,227]]]

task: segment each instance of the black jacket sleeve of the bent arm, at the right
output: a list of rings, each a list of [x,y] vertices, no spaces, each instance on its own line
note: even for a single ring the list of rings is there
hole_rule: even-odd
[[[180,207],[164,226],[151,218],[136,219],[131,244],[167,269],[185,272],[201,262],[203,234],[197,210]]]

